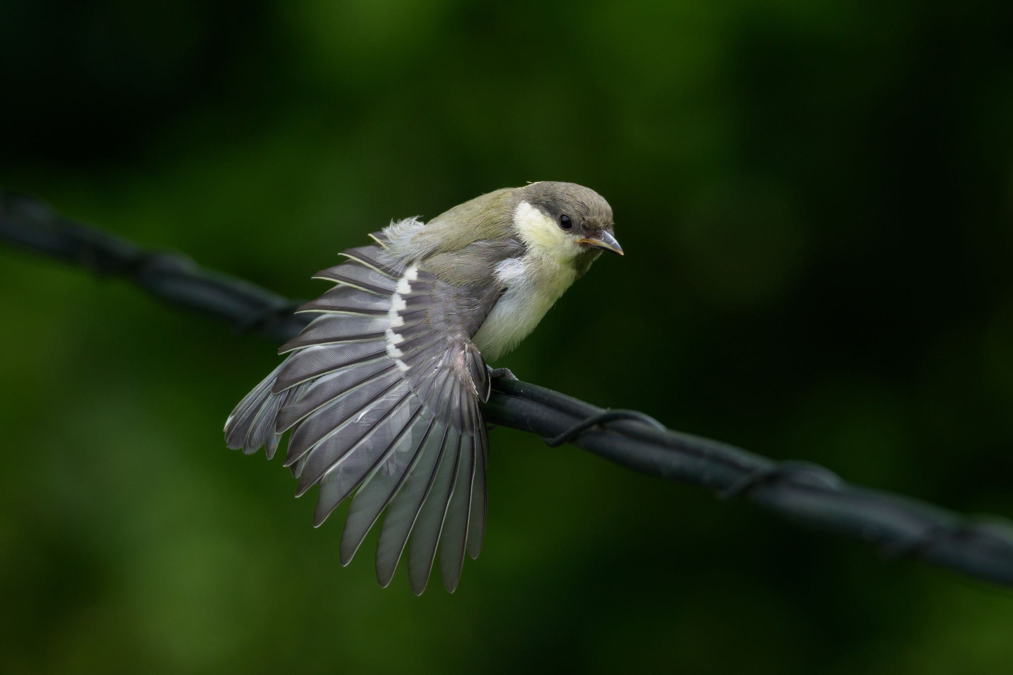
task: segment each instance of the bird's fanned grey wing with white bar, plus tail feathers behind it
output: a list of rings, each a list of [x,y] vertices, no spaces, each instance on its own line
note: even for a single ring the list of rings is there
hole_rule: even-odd
[[[390,583],[407,547],[411,587],[421,593],[439,549],[453,592],[464,552],[478,556],[485,527],[480,403],[489,379],[468,327],[497,296],[396,262],[377,241],[316,275],[335,286],[300,311],[321,316],[281,348],[286,360],[236,406],[226,441],[246,453],[262,445],[269,458],[291,431],[285,465],[297,495],[320,486],[315,525],[356,493],[342,565],[386,510],[380,584]]]

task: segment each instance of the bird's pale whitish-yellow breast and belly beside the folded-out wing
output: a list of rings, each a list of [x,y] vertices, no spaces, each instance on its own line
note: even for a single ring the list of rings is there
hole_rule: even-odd
[[[504,260],[496,276],[506,286],[472,341],[487,361],[505,355],[528,337],[559,297],[573,283],[576,273],[540,256]]]

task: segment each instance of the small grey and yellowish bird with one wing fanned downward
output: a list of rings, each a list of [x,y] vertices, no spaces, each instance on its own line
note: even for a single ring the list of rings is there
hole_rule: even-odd
[[[315,278],[336,283],[300,312],[320,313],[279,350],[286,359],[225,423],[229,447],[274,456],[297,496],[320,486],[314,525],[355,492],[341,536],[347,565],[386,509],[382,586],[408,549],[415,594],[440,552],[447,590],[485,529],[489,397],[485,359],[523,340],[602,251],[622,255],[597,192],[530,183],[475,197],[428,223],[392,222],[375,244]],[[508,371],[509,372],[509,371]]]

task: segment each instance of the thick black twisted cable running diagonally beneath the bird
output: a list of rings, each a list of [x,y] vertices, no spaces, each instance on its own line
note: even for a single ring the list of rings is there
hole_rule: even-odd
[[[204,269],[175,253],[148,251],[63,218],[46,204],[0,191],[0,240],[101,276],[127,279],[178,307],[224,319],[275,341],[315,315],[252,283]],[[665,428],[643,413],[603,410],[524,382],[494,379],[489,423],[564,442],[627,469],[743,498],[817,529],[971,577],[1013,586],[1013,523],[968,518],[900,495],[851,485],[825,467],[775,461],[716,440]]]

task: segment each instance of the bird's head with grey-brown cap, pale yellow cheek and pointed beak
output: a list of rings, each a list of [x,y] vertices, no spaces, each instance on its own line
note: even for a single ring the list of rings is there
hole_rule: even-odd
[[[623,254],[613,234],[612,206],[575,183],[543,181],[514,194],[513,228],[529,251],[582,273],[602,251]]]

